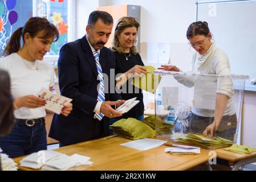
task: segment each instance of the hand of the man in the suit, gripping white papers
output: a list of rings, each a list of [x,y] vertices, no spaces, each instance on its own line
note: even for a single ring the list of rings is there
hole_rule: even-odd
[[[116,101],[103,102],[100,106],[100,113],[103,113],[108,118],[120,117],[122,114],[111,107],[116,104],[117,104]]]

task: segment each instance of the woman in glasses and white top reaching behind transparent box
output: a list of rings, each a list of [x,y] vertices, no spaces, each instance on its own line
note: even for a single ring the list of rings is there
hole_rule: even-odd
[[[186,37],[190,45],[196,50],[192,60],[192,72],[231,75],[229,59],[226,53],[212,42],[212,34],[207,22],[190,24]],[[175,65],[161,65],[159,69],[181,71]],[[193,82],[181,80],[181,78],[177,78],[177,81],[189,87],[193,86]],[[216,132],[217,136],[234,140],[237,117],[233,94],[234,89],[230,80],[228,84],[218,89],[214,112],[213,110],[193,108],[192,121],[190,122],[192,132],[203,133],[205,137],[213,137],[214,132]]]

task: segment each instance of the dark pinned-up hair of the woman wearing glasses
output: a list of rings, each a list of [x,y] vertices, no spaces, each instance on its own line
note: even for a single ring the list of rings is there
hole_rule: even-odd
[[[208,23],[207,22],[193,22],[188,27],[186,31],[186,38],[190,39],[193,38],[195,35],[205,35],[208,36],[210,33]]]

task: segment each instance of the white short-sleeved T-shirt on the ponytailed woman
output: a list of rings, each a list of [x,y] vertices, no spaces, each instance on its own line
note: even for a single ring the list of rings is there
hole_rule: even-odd
[[[35,69],[37,65],[38,70]],[[45,61],[27,61],[17,53],[12,53],[0,59],[0,68],[10,74],[13,98],[36,95],[41,88],[49,89],[55,84],[54,68]],[[42,107],[35,109],[21,107],[14,111],[14,115],[18,119],[36,119],[45,117],[46,111]]]

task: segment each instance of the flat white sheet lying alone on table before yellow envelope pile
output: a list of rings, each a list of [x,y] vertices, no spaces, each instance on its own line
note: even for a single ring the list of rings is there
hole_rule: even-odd
[[[144,138],[144,139],[135,140],[132,142],[123,143],[123,144],[121,144],[121,146],[131,147],[131,148],[135,148],[137,150],[144,151],[144,150],[149,150],[151,148],[159,147],[165,143],[166,143],[166,141],[164,141],[164,140]]]

